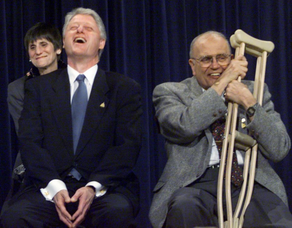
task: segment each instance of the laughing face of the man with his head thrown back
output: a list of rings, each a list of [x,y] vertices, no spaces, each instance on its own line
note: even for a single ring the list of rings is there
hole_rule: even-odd
[[[94,18],[87,14],[77,14],[68,23],[63,37],[64,48],[71,59],[80,57],[88,61],[99,61],[99,49],[103,49],[105,39],[100,38],[100,32]]]

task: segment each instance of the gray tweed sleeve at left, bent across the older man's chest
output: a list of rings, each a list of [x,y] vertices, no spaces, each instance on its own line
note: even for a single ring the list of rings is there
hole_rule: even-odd
[[[177,144],[194,141],[227,110],[217,92],[203,93],[194,77],[156,86],[153,102],[162,135]]]

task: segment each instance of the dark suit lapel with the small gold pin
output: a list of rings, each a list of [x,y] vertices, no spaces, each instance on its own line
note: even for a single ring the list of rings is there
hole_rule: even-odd
[[[84,123],[75,155],[78,155],[82,151],[85,144],[92,137],[92,134],[99,125],[101,117],[106,111],[109,103],[109,98],[106,96],[108,91],[109,87],[106,82],[106,75],[102,69],[98,68],[90,92]]]

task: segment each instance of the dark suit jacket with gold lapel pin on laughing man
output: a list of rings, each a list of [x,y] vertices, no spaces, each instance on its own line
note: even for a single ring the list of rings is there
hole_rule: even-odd
[[[28,80],[19,119],[27,178],[43,188],[50,180],[64,180],[74,167],[88,182],[137,201],[131,170],[141,145],[140,91],[134,80],[98,69],[74,155],[67,69]]]

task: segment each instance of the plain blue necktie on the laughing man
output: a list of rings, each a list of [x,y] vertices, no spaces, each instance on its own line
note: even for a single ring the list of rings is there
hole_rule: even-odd
[[[71,102],[71,113],[72,113],[72,130],[73,130],[73,149],[74,154],[78,145],[80,133],[82,130],[86,106],[87,106],[87,89],[84,83],[84,74],[79,74],[76,80],[79,85],[74,92]]]

